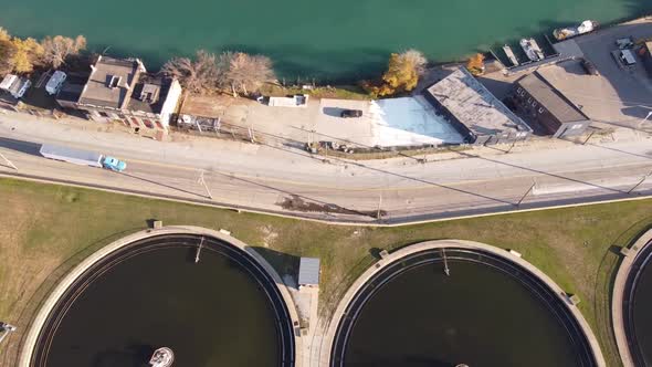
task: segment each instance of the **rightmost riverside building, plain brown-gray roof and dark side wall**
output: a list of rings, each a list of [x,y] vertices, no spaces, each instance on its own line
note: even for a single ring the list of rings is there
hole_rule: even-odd
[[[553,87],[538,72],[514,83],[509,98],[516,112],[538,135],[567,137],[583,134],[589,117]]]

